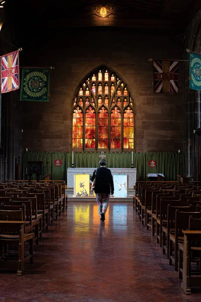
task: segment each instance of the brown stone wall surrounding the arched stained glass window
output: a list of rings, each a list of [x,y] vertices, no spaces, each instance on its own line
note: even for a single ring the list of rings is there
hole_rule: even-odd
[[[33,43],[34,41],[34,43]],[[100,64],[126,81],[135,100],[136,152],[183,150],[183,72],[178,94],[154,94],[148,58],[182,59],[178,37],[133,30],[85,28],[51,31],[33,38],[21,55],[24,66],[55,66],[48,103],[23,102],[23,147],[36,152],[71,150],[72,98],[80,81]]]

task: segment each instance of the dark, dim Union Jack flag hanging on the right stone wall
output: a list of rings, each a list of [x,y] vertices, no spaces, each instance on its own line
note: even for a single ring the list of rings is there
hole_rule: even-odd
[[[178,93],[178,61],[154,60],[153,76],[155,93]]]

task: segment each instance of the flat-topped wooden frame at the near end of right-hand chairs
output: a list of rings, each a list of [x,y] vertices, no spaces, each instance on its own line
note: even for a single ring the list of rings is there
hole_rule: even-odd
[[[201,231],[182,231],[182,233],[184,234],[184,242],[183,242],[183,280],[181,283],[181,288],[185,291],[186,294],[190,294],[192,283],[193,285],[199,286],[199,288],[201,289],[200,278],[190,277],[191,241],[195,238],[197,239],[197,237],[201,239]]]

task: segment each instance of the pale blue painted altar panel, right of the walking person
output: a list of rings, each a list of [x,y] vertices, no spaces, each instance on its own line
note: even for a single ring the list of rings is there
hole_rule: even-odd
[[[127,197],[129,195],[128,175],[113,175],[114,197]]]

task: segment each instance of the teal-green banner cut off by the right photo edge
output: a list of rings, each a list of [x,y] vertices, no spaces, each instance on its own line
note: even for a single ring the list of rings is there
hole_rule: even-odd
[[[201,90],[201,54],[189,52],[189,88]]]

